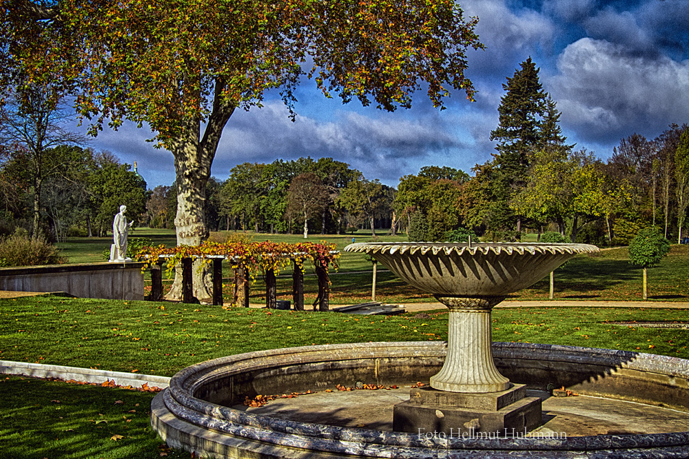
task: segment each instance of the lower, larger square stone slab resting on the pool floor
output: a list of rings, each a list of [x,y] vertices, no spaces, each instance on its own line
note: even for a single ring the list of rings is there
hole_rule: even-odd
[[[425,434],[442,432],[461,436],[477,432],[530,431],[541,425],[541,399],[525,397],[497,411],[415,405],[395,405],[393,430]]]

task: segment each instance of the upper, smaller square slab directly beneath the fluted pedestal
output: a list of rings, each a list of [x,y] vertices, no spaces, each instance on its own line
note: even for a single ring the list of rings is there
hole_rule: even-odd
[[[511,386],[504,391],[484,394],[448,392],[433,389],[433,387],[412,388],[409,391],[409,402],[413,405],[497,411],[526,397],[526,385],[513,384]]]

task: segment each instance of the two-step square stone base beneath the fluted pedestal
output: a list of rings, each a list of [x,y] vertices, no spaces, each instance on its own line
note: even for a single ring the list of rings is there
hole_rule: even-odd
[[[461,394],[432,388],[412,389],[395,405],[393,430],[472,436],[479,432],[524,432],[541,425],[541,399],[526,397],[524,385],[486,394]],[[505,430],[506,429],[506,430]]]

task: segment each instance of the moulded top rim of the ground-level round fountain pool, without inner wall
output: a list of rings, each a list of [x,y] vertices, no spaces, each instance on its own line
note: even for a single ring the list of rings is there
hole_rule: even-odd
[[[595,453],[595,456],[606,456],[608,449],[625,449],[625,453],[630,453],[630,457],[683,457],[689,448],[689,432],[659,433],[648,435],[608,435],[595,437],[571,437],[567,439],[548,439],[535,440],[529,438],[517,439],[451,439],[443,442],[440,439],[422,440],[418,436],[400,432],[380,432],[369,431],[367,429],[347,429],[326,425],[311,425],[289,420],[279,420],[268,416],[258,416],[247,414],[243,411],[220,407],[203,400],[194,398],[185,391],[195,387],[197,383],[202,383],[213,376],[220,374],[226,376],[229,373],[236,374],[236,371],[225,371],[226,365],[233,360],[240,363],[240,367],[246,371],[251,365],[241,365],[247,360],[252,360],[256,367],[253,369],[263,369],[274,367],[275,365],[285,365],[283,360],[277,359],[268,363],[261,360],[272,360],[276,356],[288,351],[289,363],[294,364],[294,355],[306,352],[311,354],[301,359],[300,363],[306,364],[316,361],[343,360],[343,356],[338,351],[346,350],[347,357],[351,360],[360,358],[376,358],[382,356],[380,349],[392,353],[385,353],[385,356],[396,354],[407,349],[406,355],[409,356],[409,349],[413,350],[415,356],[442,356],[446,351],[444,343],[409,342],[409,343],[356,343],[348,345],[320,345],[306,346],[291,349],[274,349],[271,351],[259,351],[248,354],[239,354],[216,360],[209,360],[204,363],[192,365],[180,371],[172,378],[170,388],[163,392],[161,398],[166,400],[165,409],[178,417],[184,418],[189,425],[205,426],[212,431],[226,430],[225,435],[240,436],[247,441],[260,441],[262,445],[271,443],[276,448],[297,447],[313,448],[316,451],[309,453],[323,453],[326,456],[332,453],[345,453],[347,455],[368,456],[368,457],[419,457],[434,458],[438,455],[439,449],[449,449],[450,451],[462,451],[461,454],[476,451],[480,455],[488,454],[493,457],[533,457],[538,451],[538,457],[588,457],[588,453]],[[551,361],[566,361],[570,363],[586,363],[587,360],[597,365],[627,366],[630,368],[645,369],[645,371],[659,371],[668,374],[668,369],[672,369],[677,376],[689,378],[686,365],[689,361],[667,356],[656,356],[653,354],[641,354],[626,351],[614,351],[610,349],[592,349],[582,347],[568,347],[555,345],[533,345],[526,343],[494,343],[496,357],[519,358],[516,354],[523,354],[528,358]],[[376,350],[378,349],[378,350]],[[334,352],[333,352],[334,351]],[[322,355],[320,355],[322,354]],[[339,356],[337,354],[340,354]],[[511,355],[510,355],[511,354]],[[334,356],[333,356],[334,355]],[[539,358],[540,357],[540,358]],[[678,361],[681,360],[681,361]],[[679,365],[675,368],[675,365]],[[224,367],[224,369],[223,369]],[[240,371],[239,371],[240,372]],[[210,376],[214,374],[213,376]],[[191,380],[189,380],[189,378]],[[184,387],[186,389],[184,389]],[[153,415],[152,415],[153,416]],[[174,416],[174,415],[172,415]],[[152,419],[152,423],[154,420]],[[203,429],[201,429],[203,430]],[[214,433],[215,435],[215,433]],[[315,437],[315,438],[314,438]],[[373,444],[371,444],[373,443]],[[188,449],[188,448],[187,448]],[[318,451],[320,449],[320,451]],[[430,452],[428,451],[430,450]],[[656,451],[657,450],[657,451]],[[677,450],[680,456],[671,451]],[[191,451],[191,449],[189,449]],[[502,451],[499,453],[499,451]],[[655,452],[652,452],[655,451]],[[507,454],[508,452],[508,454]],[[498,456],[495,456],[498,453]],[[560,453],[564,456],[558,456]],[[401,456],[398,456],[401,454]],[[515,455],[519,456],[515,456]],[[218,456],[221,457],[221,456]],[[224,456],[223,456],[224,457]],[[266,456],[271,457],[271,456]],[[298,456],[302,457],[302,456]],[[337,456],[336,456],[337,457]],[[470,457],[470,456],[464,456]],[[592,456],[593,457],[593,456]]]

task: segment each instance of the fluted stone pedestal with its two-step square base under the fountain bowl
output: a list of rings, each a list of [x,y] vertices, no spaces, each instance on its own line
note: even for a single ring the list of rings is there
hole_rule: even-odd
[[[508,436],[541,424],[541,399],[510,383],[493,361],[491,310],[504,296],[436,296],[450,309],[447,356],[431,387],[413,388],[395,405],[393,430],[419,434]]]

